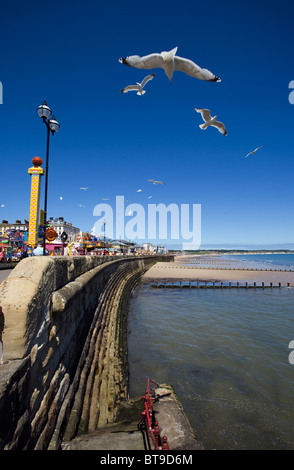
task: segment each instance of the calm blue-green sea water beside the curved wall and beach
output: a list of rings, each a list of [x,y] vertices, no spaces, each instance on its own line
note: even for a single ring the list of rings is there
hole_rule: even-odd
[[[286,254],[218,261],[294,269]],[[130,395],[142,396],[148,377],[173,385],[206,449],[294,449],[293,306],[287,287],[139,286],[128,323]]]

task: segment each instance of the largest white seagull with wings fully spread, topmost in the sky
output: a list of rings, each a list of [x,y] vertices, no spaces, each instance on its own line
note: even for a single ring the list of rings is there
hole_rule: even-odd
[[[149,54],[143,57],[139,55],[131,55],[119,59],[119,62],[130,67],[137,69],[164,69],[170,82],[173,78],[174,71],[184,72],[191,77],[199,78],[199,80],[207,80],[210,82],[220,82],[220,78],[216,77],[212,72],[207,69],[202,69],[199,65],[192,62],[192,60],[184,59],[183,57],[176,56],[178,48],[175,47],[169,52],[163,51],[160,54]]]

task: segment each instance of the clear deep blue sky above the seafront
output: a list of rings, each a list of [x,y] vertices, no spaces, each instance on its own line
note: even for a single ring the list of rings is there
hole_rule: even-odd
[[[203,246],[292,243],[293,16],[283,0],[1,6],[1,220],[29,218],[27,170],[34,156],[45,162],[36,108],[46,99],[61,125],[50,140],[48,217],[86,231],[103,198],[115,211],[124,196],[146,213],[150,203],[201,204]],[[155,69],[144,96],[120,93],[151,73],[120,57],[176,46],[221,82],[176,72],[170,83]],[[195,107],[217,114],[228,135],[201,130]],[[43,190],[44,181],[41,206]]]

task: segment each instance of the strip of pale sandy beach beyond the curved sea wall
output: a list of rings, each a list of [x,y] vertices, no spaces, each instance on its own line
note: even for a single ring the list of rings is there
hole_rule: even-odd
[[[191,259],[191,257],[189,257]],[[189,280],[189,281],[215,281],[215,282],[248,282],[265,284],[273,283],[273,285],[294,287],[294,272],[289,271],[270,271],[270,270],[247,270],[227,267],[220,263],[218,268],[215,267],[197,267],[189,264],[181,265],[184,262],[183,257],[175,258],[174,262],[156,263],[143,276],[145,281],[149,280]],[[186,262],[186,260],[185,260]],[[230,267],[229,267],[230,266]]]

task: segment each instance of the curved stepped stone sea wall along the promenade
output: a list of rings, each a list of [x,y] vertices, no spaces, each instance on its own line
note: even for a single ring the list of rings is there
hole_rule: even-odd
[[[167,259],[33,257],[2,282],[0,449],[59,449],[115,420],[127,398],[130,295]]]

